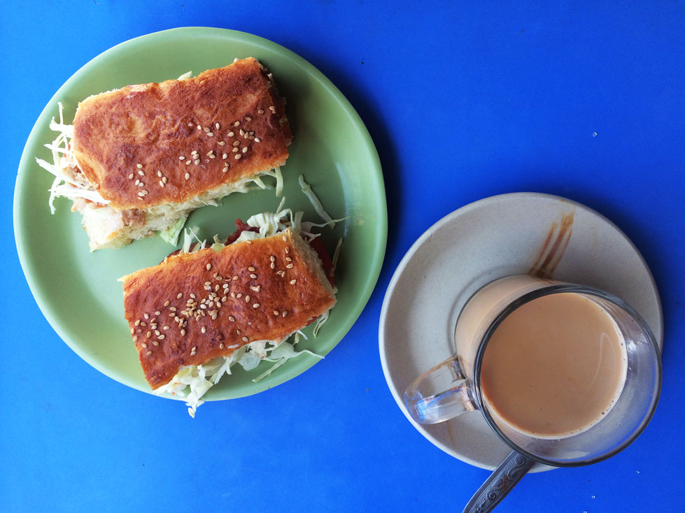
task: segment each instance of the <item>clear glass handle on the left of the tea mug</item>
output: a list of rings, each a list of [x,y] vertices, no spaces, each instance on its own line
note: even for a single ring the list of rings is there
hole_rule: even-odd
[[[455,356],[411,382],[404,392],[404,404],[419,424],[437,424],[477,409]]]

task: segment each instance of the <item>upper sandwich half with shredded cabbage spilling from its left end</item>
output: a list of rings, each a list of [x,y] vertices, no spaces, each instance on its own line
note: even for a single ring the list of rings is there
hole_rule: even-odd
[[[233,192],[282,184],[292,140],[274,80],[256,59],[194,78],[90,96],[52,145],[55,196],[73,199],[90,249],[155,231],[176,242],[188,214]],[[54,212],[54,210],[53,210]]]

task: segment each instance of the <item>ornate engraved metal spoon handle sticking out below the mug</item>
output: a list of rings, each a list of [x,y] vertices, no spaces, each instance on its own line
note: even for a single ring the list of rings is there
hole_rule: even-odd
[[[488,513],[495,509],[507,493],[532,467],[534,460],[523,454],[511,451],[500,466],[488,477],[486,482],[474,493],[464,508],[464,513]]]

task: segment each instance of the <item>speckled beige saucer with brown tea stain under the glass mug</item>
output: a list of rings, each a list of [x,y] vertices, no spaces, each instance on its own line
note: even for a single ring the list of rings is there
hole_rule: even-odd
[[[409,417],[404,390],[453,354],[457,317],[479,287],[532,268],[622,298],[644,317],[660,347],[663,342],[661,302],[647,264],[597,212],[558,196],[515,193],[476,201],[440,219],[411,246],[390,280],[379,325],[381,363],[414,427],[448,454],[488,470],[511,449],[479,412],[422,426]]]

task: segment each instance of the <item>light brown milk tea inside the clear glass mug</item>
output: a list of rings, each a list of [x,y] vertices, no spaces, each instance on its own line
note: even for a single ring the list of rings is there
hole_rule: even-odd
[[[468,375],[494,315],[548,284],[530,276],[507,277],[467,303],[456,342]],[[535,438],[566,438],[591,428],[611,410],[626,380],[626,347],[614,319],[589,297],[542,296],[497,327],[483,355],[480,381],[483,402],[498,424]]]

